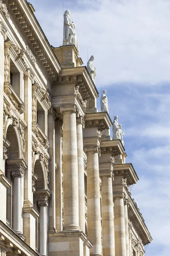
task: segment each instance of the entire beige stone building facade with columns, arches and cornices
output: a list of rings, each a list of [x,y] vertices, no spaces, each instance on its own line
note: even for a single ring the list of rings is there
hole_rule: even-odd
[[[74,45],[0,0],[0,256],[144,256],[138,176]]]

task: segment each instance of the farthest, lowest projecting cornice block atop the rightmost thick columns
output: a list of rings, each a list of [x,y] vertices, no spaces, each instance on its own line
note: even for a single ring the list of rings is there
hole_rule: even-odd
[[[114,176],[123,176],[127,178],[127,185],[135,184],[139,178],[131,163],[115,164]]]

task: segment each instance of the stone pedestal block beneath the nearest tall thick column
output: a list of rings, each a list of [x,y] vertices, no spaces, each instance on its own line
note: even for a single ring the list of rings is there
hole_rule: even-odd
[[[49,256],[90,256],[93,245],[82,231],[49,233],[48,237]]]

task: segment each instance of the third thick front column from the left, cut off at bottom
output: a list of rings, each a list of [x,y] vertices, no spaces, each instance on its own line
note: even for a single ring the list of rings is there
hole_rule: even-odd
[[[113,172],[100,172],[102,178],[102,252],[103,256],[114,256],[114,217],[113,217]]]

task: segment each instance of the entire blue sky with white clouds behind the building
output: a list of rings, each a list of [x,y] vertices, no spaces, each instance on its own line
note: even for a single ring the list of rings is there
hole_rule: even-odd
[[[63,2],[32,0],[50,44],[62,45]],[[96,87],[125,132],[126,162],[139,181],[138,201],[153,237],[146,256],[170,251],[170,1],[64,1],[77,25],[80,57],[95,55]],[[100,100],[98,99],[98,109]]]

